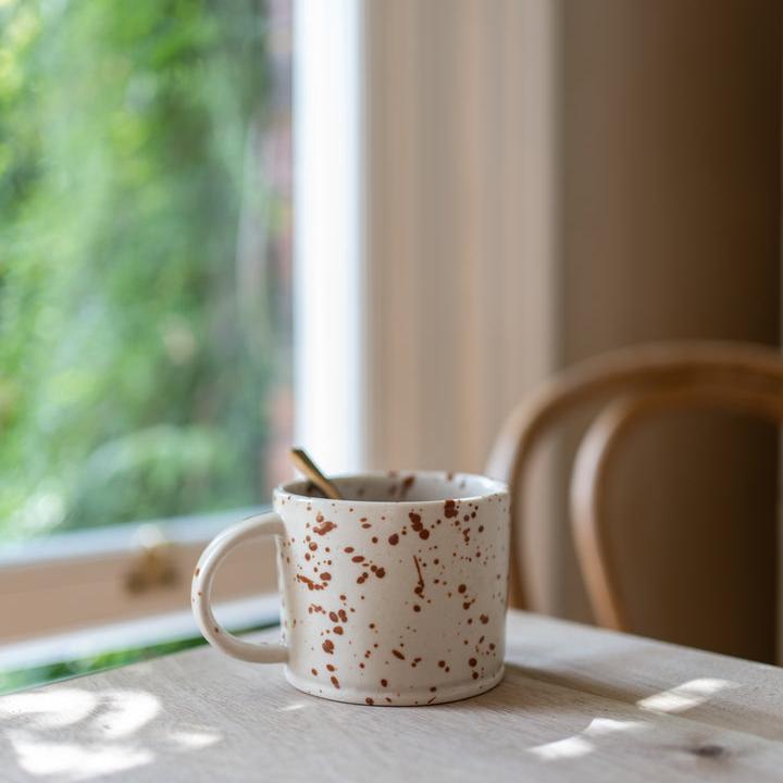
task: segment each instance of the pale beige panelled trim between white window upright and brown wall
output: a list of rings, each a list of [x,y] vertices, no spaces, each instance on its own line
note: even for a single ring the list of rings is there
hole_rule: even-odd
[[[368,462],[481,471],[552,371],[551,0],[368,0]]]

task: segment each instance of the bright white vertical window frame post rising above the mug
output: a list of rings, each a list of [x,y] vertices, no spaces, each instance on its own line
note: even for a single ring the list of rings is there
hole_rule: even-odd
[[[298,0],[296,439],[333,473],[365,463],[363,0]]]

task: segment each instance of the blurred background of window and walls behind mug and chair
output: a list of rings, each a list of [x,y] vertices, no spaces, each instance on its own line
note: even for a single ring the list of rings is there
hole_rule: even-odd
[[[293,440],[481,472],[582,360],[779,347],[782,55],[778,0],[1,1],[0,686],[191,644],[191,564]],[[587,421],[536,465],[524,568],[592,622]],[[635,632],[781,660],[778,451],[724,413],[634,434]],[[249,549],[236,629],[276,611]]]

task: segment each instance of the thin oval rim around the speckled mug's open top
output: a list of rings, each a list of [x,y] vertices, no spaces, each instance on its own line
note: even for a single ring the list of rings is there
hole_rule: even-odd
[[[452,498],[443,497],[437,500],[408,500],[408,499],[384,499],[384,500],[364,500],[363,498],[349,498],[333,500],[326,497],[314,497],[312,495],[302,495],[300,492],[295,492],[291,487],[306,486],[309,482],[308,478],[293,478],[291,481],[278,484],[273,492],[275,498],[285,497],[291,501],[307,501],[307,502],[327,502],[332,506],[414,506],[428,507],[428,506],[443,506],[445,500],[453,499],[459,502],[476,502],[478,500],[485,500],[486,498],[494,497],[497,495],[509,495],[509,485],[500,481],[499,478],[493,478],[492,476],[484,475],[483,473],[464,473],[462,471],[434,471],[434,470],[394,470],[394,471],[356,471],[352,473],[338,473],[331,475],[330,480],[339,482],[345,478],[394,478],[405,476],[415,477],[427,477],[427,478],[440,478],[444,482],[457,481],[459,478],[478,481],[484,484],[484,492],[478,495],[468,495],[461,497],[459,493],[453,495]]]

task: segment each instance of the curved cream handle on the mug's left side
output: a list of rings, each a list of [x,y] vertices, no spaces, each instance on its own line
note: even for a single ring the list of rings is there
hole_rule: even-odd
[[[250,517],[224,530],[201,552],[190,591],[192,612],[204,638],[222,652],[251,663],[285,663],[288,648],[284,644],[251,644],[228,633],[212,613],[210,595],[223,558],[246,540],[269,535],[285,535],[283,520],[274,511]]]

